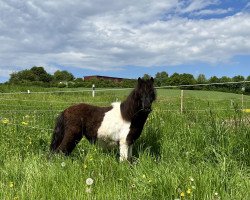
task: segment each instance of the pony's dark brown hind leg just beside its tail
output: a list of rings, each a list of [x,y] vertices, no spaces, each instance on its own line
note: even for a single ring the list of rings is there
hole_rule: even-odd
[[[83,133],[79,131],[78,132],[75,132],[73,130],[65,131],[64,138],[59,147],[57,148],[57,151],[62,152],[65,155],[69,155],[73,151],[75,146],[80,142],[82,137]]]

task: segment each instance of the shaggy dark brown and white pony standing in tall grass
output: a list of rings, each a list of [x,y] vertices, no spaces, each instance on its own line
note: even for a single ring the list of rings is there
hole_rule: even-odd
[[[120,161],[131,160],[132,145],[139,138],[156,99],[154,79],[138,78],[136,87],[123,102],[108,107],[85,103],[68,107],[59,114],[51,152],[69,155],[83,136],[91,143],[119,146]]]

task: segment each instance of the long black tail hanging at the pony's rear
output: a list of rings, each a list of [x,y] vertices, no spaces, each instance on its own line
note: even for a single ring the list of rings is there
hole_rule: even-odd
[[[56,120],[56,126],[50,144],[50,151],[56,151],[59,147],[64,137],[64,130],[64,113],[62,112]]]

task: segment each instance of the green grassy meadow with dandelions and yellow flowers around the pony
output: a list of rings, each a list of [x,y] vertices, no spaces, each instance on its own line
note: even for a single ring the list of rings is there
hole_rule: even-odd
[[[185,90],[181,113],[180,90],[158,89],[133,162],[120,163],[116,149],[86,139],[68,157],[49,144],[63,109],[110,105],[129,89],[8,93],[27,89],[0,88],[0,199],[250,199],[250,113],[240,94]]]

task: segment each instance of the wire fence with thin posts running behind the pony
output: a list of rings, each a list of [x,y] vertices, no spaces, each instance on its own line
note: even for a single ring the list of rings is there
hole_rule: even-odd
[[[210,109],[216,112],[250,112],[250,96],[216,91],[195,90],[195,87],[213,85],[244,86],[250,81],[226,82],[196,85],[155,87],[157,101],[154,104],[161,112],[201,113]],[[188,90],[193,87],[192,90]],[[12,127],[51,132],[54,120],[60,112],[70,105],[88,103],[107,106],[114,101],[122,101],[133,88],[72,89],[27,92],[0,92],[1,124]],[[50,90],[50,91],[49,91]]]

